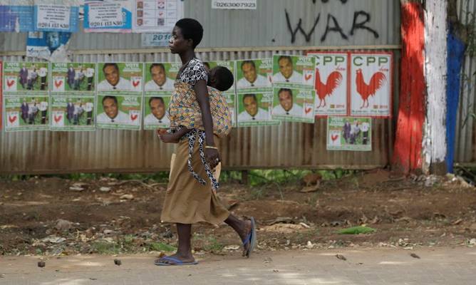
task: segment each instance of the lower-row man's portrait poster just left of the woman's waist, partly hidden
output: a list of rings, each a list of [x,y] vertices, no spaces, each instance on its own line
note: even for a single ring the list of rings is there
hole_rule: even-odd
[[[155,95],[144,98],[144,130],[169,128],[170,95]]]

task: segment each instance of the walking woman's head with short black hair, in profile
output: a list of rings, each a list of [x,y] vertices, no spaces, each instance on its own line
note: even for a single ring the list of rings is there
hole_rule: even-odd
[[[187,49],[194,49],[203,37],[203,27],[195,19],[180,19],[172,30],[169,48],[172,53],[180,53]]]

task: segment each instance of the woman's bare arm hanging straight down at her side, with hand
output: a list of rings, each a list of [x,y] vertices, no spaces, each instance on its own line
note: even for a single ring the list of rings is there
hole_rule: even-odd
[[[198,105],[200,105],[200,110],[202,112],[202,123],[203,127],[205,128],[205,145],[214,147],[213,120],[212,112],[210,111],[207,83],[204,80],[197,81],[193,89],[195,90],[195,94],[197,95],[197,102]],[[218,150],[205,147],[205,157],[207,158],[210,167],[214,168],[218,165]]]

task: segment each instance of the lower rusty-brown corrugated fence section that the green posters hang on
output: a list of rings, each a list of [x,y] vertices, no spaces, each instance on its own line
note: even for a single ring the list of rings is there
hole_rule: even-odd
[[[204,61],[266,58],[273,53],[302,51],[207,52]],[[4,57],[21,61],[21,57]],[[175,61],[170,53],[99,54],[74,56],[73,61]],[[395,53],[395,71],[399,70]],[[394,82],[398,83],[398,72]],[[398,84],[394,85],[395,97]],[[394,100],[396,103],[398,100]],[[395,112],[394,112],[395,113]],[[314,124],[235,128],[220,142],[227,169],[276,167],[372,168],[387,165],[393,143],[393,122],[373,119],[372,152],[326,150],[326,119]],[[167,170],[173,145],[163,144],[148,130],[96,130],[94,132],[32,131],[0,134],[0,172],[153,172]]]

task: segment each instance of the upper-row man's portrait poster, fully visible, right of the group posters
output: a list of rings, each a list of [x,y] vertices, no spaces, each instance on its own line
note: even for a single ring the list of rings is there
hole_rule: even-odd
[[[143,63],[98,63],[98,92],[142,92]]]

